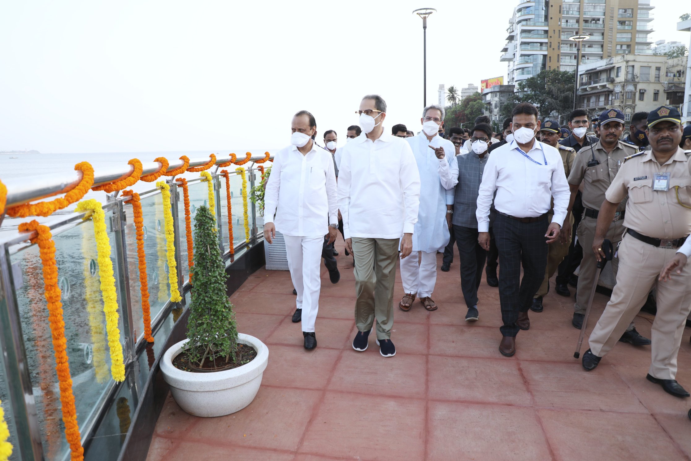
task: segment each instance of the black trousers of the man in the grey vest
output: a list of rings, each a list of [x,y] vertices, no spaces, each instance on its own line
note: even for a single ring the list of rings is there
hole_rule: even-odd
[[[490,235],[493,233],[489,229]],[[477,288],[482,280],[482,269],[487,252],[477,243],[477,228],[453,226],[461,265],[461,290],[469,308],[477,305]]]

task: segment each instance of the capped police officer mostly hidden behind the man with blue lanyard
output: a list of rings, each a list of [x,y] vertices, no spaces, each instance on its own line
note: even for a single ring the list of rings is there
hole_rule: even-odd
[[[576,160],[576,149],[559,144],[561,134],[559,124],[554,120],[545,120],[545,122],[542,122],[540,132],[538,133],[540,136],[540,141],[558,149],[562,162],[564,162],[564,172],[566,173],[566,177],[569,178],[571,166],[573,166],[574,160]],[[551,220],[553,214],[554,210],[549,210],[549,216],[547,219]],[[533,297],[533,305],[530,306],[530,309],[533,312],[542,312],[542,297],[544,297],[549,291],[549,279],[551,279],[551,276],[554,275],[554,272],[556,272],[559,264],[567,256],[567,254],[569,254],[569,245],[571,244],[571,226],[574,225],[574,217],[570,214],[569,216],[567,216],[570,223],[569,227],[562,227],[562,233],[560,234],[559,238],[548,245],[545,280],[542,281],[540,289]]]

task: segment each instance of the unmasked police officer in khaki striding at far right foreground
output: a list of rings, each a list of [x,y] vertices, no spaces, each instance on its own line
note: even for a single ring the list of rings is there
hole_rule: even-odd
[[[691,162],[679,147],[679,111],[661,106],[648,114],[647,126],[652,150],[627,159],[600,206],[592,244],[597,259],[604,256],[603,239],[618,204],[629,197],[624,218],[627,233],[618,249],[617,283],[590,335],[583,368],[592,370],[598,365],[636,317],[648,292],[666,278],[664,270],[671,270],[670,280],[657,283],[647,379],[676,397],[688,397],[674,377],[685,319],[691,310],[691,268],[681,264],[686,255],[679,253],[691,232]]]

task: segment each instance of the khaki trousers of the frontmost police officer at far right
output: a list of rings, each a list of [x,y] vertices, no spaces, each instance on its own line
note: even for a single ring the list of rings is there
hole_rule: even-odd
[[[605,312],[590,334],[590,350],[603,357],[621,338],[657,284],[657,314],[652,323],[652,353],[648,373],[658,379],[676,377],[676,354],[685,319],[691,310],[691,267],[672,280],[657,282],[660,271],[676,250],[658,248],[626,235],[619,247],[621,267]]]

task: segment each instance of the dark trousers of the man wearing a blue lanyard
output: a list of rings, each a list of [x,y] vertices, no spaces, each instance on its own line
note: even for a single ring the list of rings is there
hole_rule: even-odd
[[[528,312],[533,296],[545,279],[547,266],[547,216],[535,223],[497,214],[494,221],[494,237],[499,250],[499,301],[502,306],[502,322],[499,329],[503,336],[518,334],[519,312]],[[520,268],[523,267],[523,279]]]

